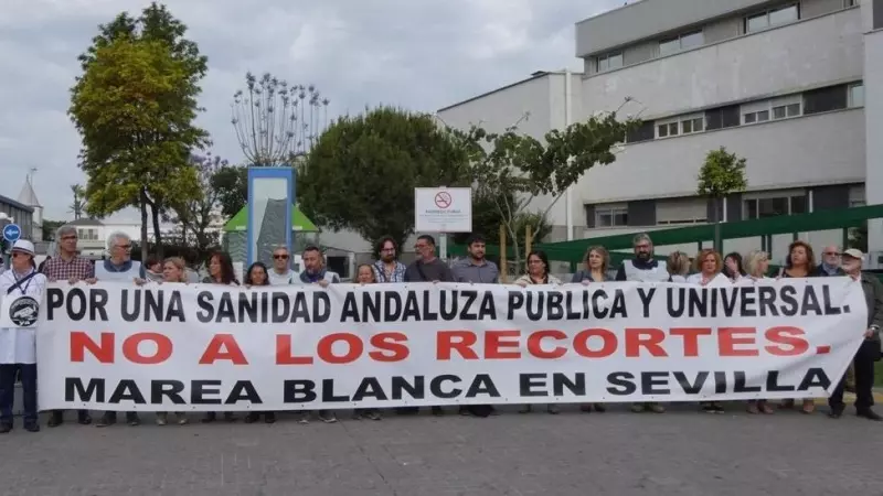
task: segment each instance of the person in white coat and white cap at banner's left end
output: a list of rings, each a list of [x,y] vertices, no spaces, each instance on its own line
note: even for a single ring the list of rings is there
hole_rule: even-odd
[[[0,434],[12,430],[15,374],[21,374],[24,429],[39,432],[36,411],[36,321],[46,277],[36,271],[34,245],[12,245],[12,263],[0,274]]]

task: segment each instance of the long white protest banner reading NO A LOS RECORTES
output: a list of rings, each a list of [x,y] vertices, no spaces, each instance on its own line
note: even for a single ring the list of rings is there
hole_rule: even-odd
[[[848,278],[701,288],[50,284],[42,409],[299,410],[827,397]]]

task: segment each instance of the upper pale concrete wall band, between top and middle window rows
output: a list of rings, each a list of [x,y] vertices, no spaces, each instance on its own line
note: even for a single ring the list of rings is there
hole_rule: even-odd
[[[858,79],[863,66],[860,10],[850,9],[586,77],[582,111],[613,110],[631,97],[645,117],[677,115]]]

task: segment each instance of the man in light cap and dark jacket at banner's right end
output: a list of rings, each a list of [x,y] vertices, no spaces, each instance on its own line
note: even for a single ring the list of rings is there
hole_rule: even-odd
[[[871,407],[874,405],[874,362],[880,359],[880,328],[883,326],[883,283],[871,274],[862,272],[864,254],[854,248],[843,251],[841,268],[855,281],[862,284],[864,300],[868,303],[868,328],[864,332],[864,342],[853,359],[855,368],[855,414],[868,420],[881,421]],[[840,379],[833,395],[828,399],[832,419],[839,419],[847,406],[843,402],[844,378]]]

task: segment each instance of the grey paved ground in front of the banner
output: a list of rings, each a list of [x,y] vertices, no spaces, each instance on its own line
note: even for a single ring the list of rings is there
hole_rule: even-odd
[[[883,425],[711,416],[391,416],[301,425],[65,424],[0,436],[4,496],[883,495]],[[148,419],[145,419],[148,420]]]

